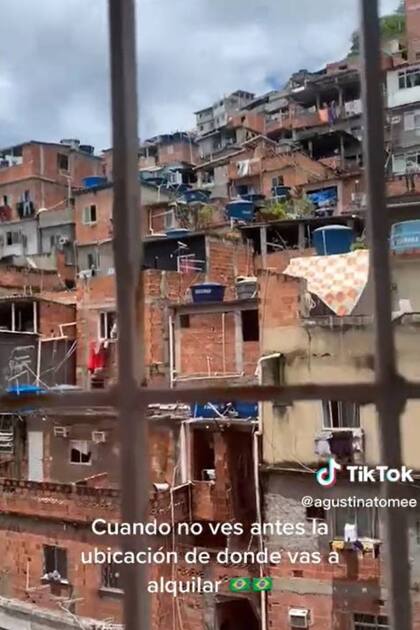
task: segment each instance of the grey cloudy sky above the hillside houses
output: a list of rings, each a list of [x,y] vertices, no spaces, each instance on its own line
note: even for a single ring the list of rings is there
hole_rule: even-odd
[[[398,0],[382,0],[382,11]],[[0,0],[0,146],[110,145],[106,0]],[[137,0],[140,130],[190,129],[225,93],[262,93],[343,57],[358,0]]]

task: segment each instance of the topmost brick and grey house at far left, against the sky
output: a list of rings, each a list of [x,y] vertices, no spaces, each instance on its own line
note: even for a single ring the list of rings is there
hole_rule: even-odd
[[[63,252],[74,275],[73,192],[101,173],[93,147],[78,140],[1,149],[0,258],[41,256],[51,266]]]

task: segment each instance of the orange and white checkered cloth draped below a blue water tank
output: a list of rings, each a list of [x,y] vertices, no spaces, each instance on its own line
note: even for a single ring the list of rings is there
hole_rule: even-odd
[[[351,315],[366,287],[369,252],[359,249],[349,254],[292,258],[284,273],[305,279],[310,293],[344,317]]]

